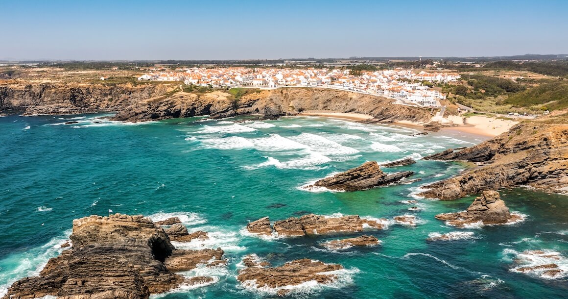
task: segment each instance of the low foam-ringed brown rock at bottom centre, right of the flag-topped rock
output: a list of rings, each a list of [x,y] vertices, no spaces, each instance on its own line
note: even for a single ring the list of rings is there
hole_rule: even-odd
[[[279,267],[268,268],[270,264],[258,261],[256,256],[244,259],[247,268],[239,271],[237,280],[249,288],[269,289],[278,296],[286,296],[295,285],[316,281],[329,284],[337,275],[326,273],[343,269],[340,264],[325,264],[321,261],[300,259],[289,261]]]

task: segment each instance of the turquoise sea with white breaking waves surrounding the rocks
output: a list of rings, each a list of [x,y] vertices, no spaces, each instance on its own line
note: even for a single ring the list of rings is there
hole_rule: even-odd
[[[445,148],[481,140],[396,126],[358,124],[316,117],[234,123],[176,119],[145,124],[103,121],[101,115],[0,118],[0,296],[24,276],[36,275],[59,254],[72,220],[91,214],[144,214],[154,220],[182,217],[190,231],[210,232],[201,244],[222,247],[226,269],[199,268],[216,284],[179,289],[164,298],[271,297],[235,279],[244,255],[273,265],[310,258],[345,267],[337,283],[306,286],[295,297],[318,298],[559,298],[566,277],[545,279],[510,271],[529,263],[524,250],[549,250],[568,271],[568,198],[525,189],[504,189],[502,198],[523,222],[456,229],[435,214],[465,209],[458,201],[418,199],[417,187],[456,175],[465,165],[418,161],[400,167],[422,181],[353,193],[310,192],[303,185],[368,160],[419,159]],[[65,125],[64,122],[79,123]],[[396,171],[389,169],[388,171]],[[312,190],[313,191],[313,190]],[[370,248],[328,251],[319,246],[340,236],[261,239],[248,235],[248,221],[305,213],[358,214],[389,218],[412,214],[415,227],[394,222],[366,231],[382,240]],[[473,238],[427,242],[429,234],[473,232]],[[363,233],[361,233],[363,234]],[[353,234],[356,236],[361,234]],[[203,245],[203,247],[202,247]]]

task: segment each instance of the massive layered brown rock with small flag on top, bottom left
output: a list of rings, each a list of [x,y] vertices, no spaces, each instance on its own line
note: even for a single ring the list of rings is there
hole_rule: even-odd
[[[177,250],[165,231],[142,215],[93,215],[73,221],[70,250],[36,277],[16,281],[4,297],[148,298],[185,283],[174,272],[222,260],[223,251]]]

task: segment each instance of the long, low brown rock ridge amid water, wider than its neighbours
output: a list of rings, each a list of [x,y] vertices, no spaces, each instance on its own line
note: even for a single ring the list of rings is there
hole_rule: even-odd
[[[386,221],[386,219],[385,219]],[[253,225],[251,225],[253,224]],[[276,232],[281,236],[306,236],[306,235],[325,235],[337,232],[358,232],[363,231],[364,226],[382,230],[384,225],[379,221],[362,219],[358,215],[348,215],[341,217],[326,217],[322,215],[307,214],[302,217],[290,217],[285,220],[274,222],[273,228],[270,227],[268,217],[250,222],[247,230],[254,234],[269,235]]]

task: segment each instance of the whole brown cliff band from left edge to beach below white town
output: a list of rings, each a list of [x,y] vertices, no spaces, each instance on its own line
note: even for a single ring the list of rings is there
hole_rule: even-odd
[[[0,113],[10,108],[23,110],[24,115],[118,111],[116,121],[130,122],[201,115],[274,118],[306,110],[374,117],[367,122],[428,122],[431,118],[428,109],[392,105],[392,99],[343,90],[281,88],[251,92],[235,99],[220,90],[205,94],[173,92],[176,87],[173,84],[9,84],[0,86]]]

